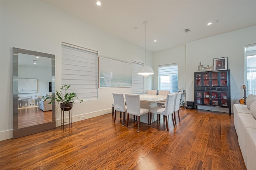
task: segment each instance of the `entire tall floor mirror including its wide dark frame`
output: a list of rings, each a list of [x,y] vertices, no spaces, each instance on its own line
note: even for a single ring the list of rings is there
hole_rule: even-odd
[[[55,55],[13,48],[13,139],[54,129]]]

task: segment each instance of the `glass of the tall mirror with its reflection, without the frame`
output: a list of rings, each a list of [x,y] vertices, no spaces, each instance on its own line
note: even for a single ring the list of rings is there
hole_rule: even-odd
[[[18,54],[18,128],[52,121],[52,59]]]

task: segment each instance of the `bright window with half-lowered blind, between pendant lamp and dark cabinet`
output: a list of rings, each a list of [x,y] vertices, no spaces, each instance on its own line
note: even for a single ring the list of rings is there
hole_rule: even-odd
[[[159,90],[178,92],[178,64],[158,66]]]

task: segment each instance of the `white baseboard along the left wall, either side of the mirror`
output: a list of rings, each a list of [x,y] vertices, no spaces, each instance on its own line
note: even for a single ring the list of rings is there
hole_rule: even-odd
[[[105,114],[108,114],[108,113],[111,113],[111,112],[112,112],[112,108],[104,109],[104,110],[100,110],[100,111],[95,111],[95,112],[91,112],[91,113],[85,113],[85,114],[82,114],[82,115],[73,116],[73,123],[76,122],[76,121],[81,121],[81,120],[84,120],[84,119],[90,119],[92,117],[105,115]],[[84,116],[83,119],[81,119],[82,116]],[[64,119],[64,121],[68,121],[68,118]],[[58,126],[60,126],[60,119],[56,120],[56,127],[58,127]],[[12,129],[8,130],[8,131],[0,132],[0,141],[4,141],[6,139],[12,139]]]

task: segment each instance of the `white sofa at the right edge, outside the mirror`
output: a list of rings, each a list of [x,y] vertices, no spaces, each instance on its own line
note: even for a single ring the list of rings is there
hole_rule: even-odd
[[[246,168],[255,170],[256,95],[250,94],[246,99],[246,105],[234,104],[234,125]]]

